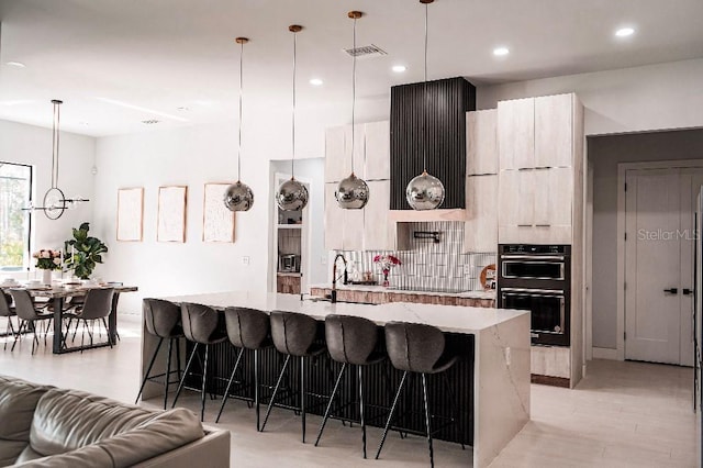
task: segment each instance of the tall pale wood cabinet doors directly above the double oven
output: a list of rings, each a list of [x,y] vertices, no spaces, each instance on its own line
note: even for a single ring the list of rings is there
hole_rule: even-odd
[[[572,93],[499,102],[501,244],[571,244],[582,113]]]

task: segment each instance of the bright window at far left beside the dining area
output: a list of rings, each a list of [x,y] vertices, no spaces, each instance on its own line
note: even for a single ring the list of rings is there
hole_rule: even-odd
[[[30,264],[32,167],[0,161],[0,271],[20,271]]]

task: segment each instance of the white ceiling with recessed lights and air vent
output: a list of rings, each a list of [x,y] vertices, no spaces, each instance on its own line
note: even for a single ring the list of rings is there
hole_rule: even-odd
[[[352,9],[366,14],[357,45],[388,54],[358,60],[357,96],[421,81],[416,0],[0,0],[0,119],[51,126],[49,101],[63,99],[62,130],[92,136],[234,120],[236,36],[250,38],[245,114],[289,107],[293,23],[304,26],[299,105],[348,109]],[[703,57],[701,0],[437,0],[428,11],[429,79],[481,86]],[[625,25],[635,34],[615,37]]]

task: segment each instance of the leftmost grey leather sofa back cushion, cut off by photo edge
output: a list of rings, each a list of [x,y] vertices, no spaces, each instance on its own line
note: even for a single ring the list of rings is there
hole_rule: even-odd
[[[29,446],[34,410],[49,388],[0,376],[0,466],[12,465]]]

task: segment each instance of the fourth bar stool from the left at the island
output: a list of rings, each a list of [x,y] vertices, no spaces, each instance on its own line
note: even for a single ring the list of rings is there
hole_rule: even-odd
[[[271,394],[271,399],[268,402],[261,431],[266,427],[268,416],[271,413],[271,408],[276,401],[276,393],[278,393],[278,389],[280,388],[283,376],[286,375],[286,369],[288,367],[288,363],[290,363],[291,356],[299,357],[300,413],[302,416],[303,443],[305,443],[305,358],[322,354],[325,350],[325,346],[324,344],[313,343],[317,332],[317,321],[311,316],[300,313],[272,311],[270,319],[274,346],[276,346],[276,349],[278,349],[279,353],[286,355],[286,361],[283,361],[283,368],[276,381],[274,394]]]

